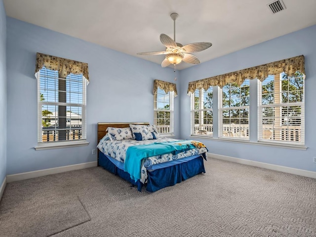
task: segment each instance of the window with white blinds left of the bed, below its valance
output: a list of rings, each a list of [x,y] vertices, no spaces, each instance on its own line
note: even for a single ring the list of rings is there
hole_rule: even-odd
[[[39,143],[86,139],[86,79],[69,74],[65,79],[58,71],[43,67],[38,79]]]

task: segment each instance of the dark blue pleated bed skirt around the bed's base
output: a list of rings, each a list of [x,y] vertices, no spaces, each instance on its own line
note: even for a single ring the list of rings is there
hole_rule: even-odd
[[[137,182],[132,180],[129,176],[129,173],[125,172],[122,168],[119,168],[117,165],[115,165],[115,163],[111,161],[111,158],[108,158],[100,151],[98,165],[102,166],[111,173],[129,181],[131,184],[137,186],[139,192],[142,191],[142,182],[140,182],[139,180]],[[148,192],[155,192],[159,189],[173,186],[197,174],[205,173],[203,157],[201,155],[181,163],[177,161],[177,163],[172,166],[155,169],[153,165],[153,167],[151,168],[153,168],[154,170],[150,169],[147,171],[148,179],[147,183],[145,184],[146,190]]]

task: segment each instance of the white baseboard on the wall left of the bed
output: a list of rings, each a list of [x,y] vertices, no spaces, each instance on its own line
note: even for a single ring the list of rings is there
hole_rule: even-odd
[[[56,167],[56,168],[51,168],[51,169],[35,170],[35,171],[19,173],[19,174],[10,174],[6,176],[7,178],[6,182],[11,183],[14,181],[32,179],[32,178],[45,176],[49,174],[58,174],[62,172],[67,172],[67,171],[72,171],[72,170],[77,170],[77,169],[85,169],[85,168],[90,168],[90,167],[95,167],[95,166],[97,166],[97,161],[61,166],[61,167]]]

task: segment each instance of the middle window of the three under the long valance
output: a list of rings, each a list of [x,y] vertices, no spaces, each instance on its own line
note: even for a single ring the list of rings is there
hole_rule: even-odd
[[[219,89],[219,137],[249,140],[249,79]]]

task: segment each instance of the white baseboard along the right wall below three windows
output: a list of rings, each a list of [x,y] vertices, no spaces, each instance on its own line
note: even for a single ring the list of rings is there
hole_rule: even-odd
[[[251,166],[256,166],[260,168],[271,169],[271,170],[276,170],[276,171],[280,171],[284,173],[296,174],[296,175],[301,175],[301,176],[316,179],[316,172],[309,171],[309,170],[296,169],[296,168],[291,168],[291,167],[286,167],[286,166],[281,166],[281,165],[276,165],[276,164],[263,163],[259,161],[249,160],[249,159],[227,157],[227,156],[222,156],[222,155],[217,155],[217,154],[212,154],[212,153],[207,153],[207,156],[211,158],[215,158],[215,159],[222,159],[222,160],[231,161],[231,162],[235,162],[239,164],[246,164],[246,165],[251,165]]]

